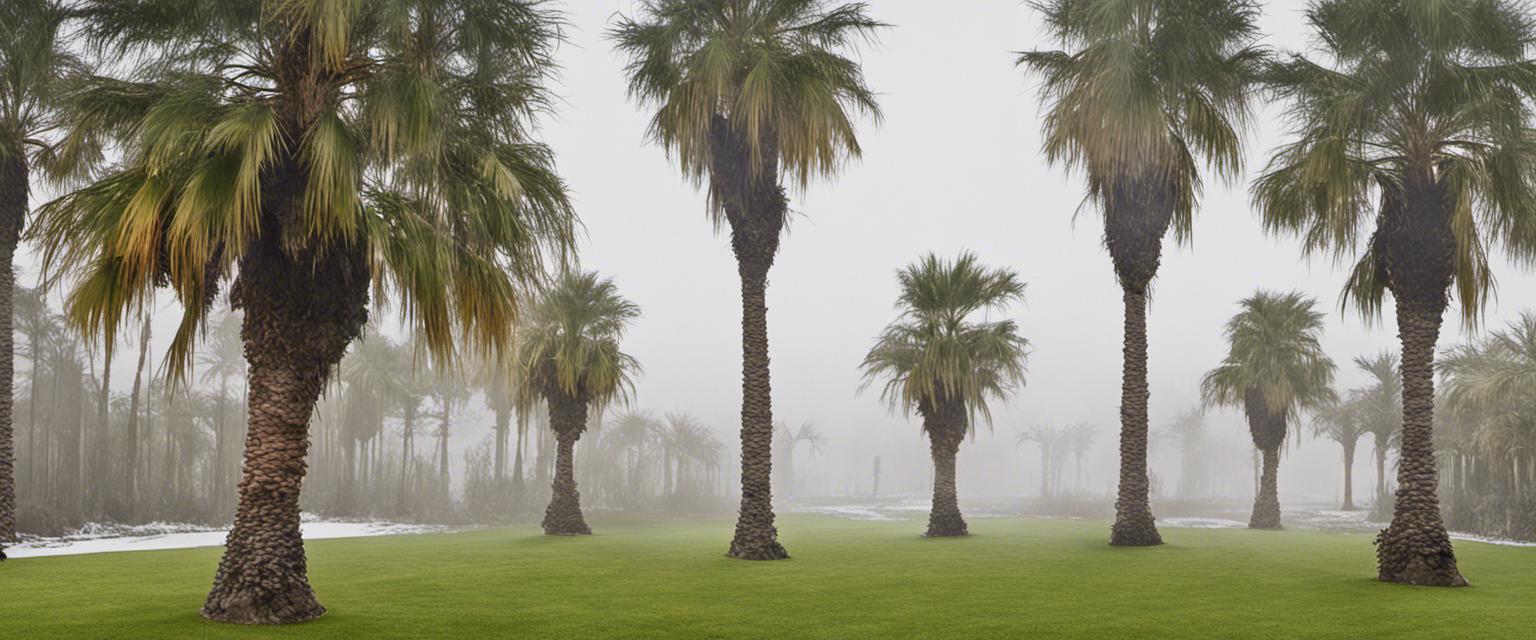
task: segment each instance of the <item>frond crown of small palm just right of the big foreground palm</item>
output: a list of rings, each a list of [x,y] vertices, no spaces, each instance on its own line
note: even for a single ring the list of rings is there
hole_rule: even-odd
[[[565,272],[541,292],[519,330],[518,407],[562,393],[604,407],[628,401],[641,364],[619,348],[641,307],[613,279]]]

